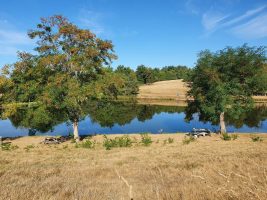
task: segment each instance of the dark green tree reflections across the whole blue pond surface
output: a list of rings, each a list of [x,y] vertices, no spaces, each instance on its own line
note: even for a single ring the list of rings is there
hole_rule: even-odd
[[[0,110],[0,112],[3,112],[3,110]],[[199,113],[194,104],[189,104],[186,109],[175,106],[138,105],[132,102],[90,101],[87,105],[84,105],[85,115],[89,114],[93,122],[99,123],[103,127],[112,127],[115,124],[125,125],[135,118],[139,121],[149,120],[155,114],[162,112],[185,112],[187,121],[193,119],[194,113]],[[12,109],[8,118],[13,126],[29,129],[29,135],[35,135],[37,131],[45,133],[52,130],[54,126],[69,121],[64,110],[50,109],[44,105]],[[238,115],[231,113],[226,113],[225,115],[227,125],[233,125],[236,128],[240,128],[243,125],[259,127],[265,119],[267,119],[267,109],[265,107],[255,107]],[[200,114],[199,120],[212,122],[213,124],[218,123],[216,120],[211,121],[203,114]]]

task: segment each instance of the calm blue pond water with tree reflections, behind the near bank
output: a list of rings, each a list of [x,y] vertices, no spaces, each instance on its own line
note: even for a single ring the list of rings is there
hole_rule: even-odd
[[[175,106],[138,105],[129,103],[95,103],[79,122],[80,135],[115,133],[176,133],[192,128],[218,130],[218,125],[202,122],[197,114],[185,120],[185,108]],[[228,132],[267,133],[267,109],[255,108],[235,119],[227,119]],[[0,120],[0,136],[68,135],[72,125],[60,113],[47,114],[42,109],[27,108],[8,119]]]

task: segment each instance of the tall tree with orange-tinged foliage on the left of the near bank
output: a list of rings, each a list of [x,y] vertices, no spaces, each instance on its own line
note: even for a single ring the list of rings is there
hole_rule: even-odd
[[[84,104],[99,89],[97,81],[105,76],[103,67],[116,59],[113,45],[60,15],[42,18],[28,35],[37,40],[37,54],[20,53],[10,66],[14,98],[9,101],[35,101],[48,110],[58,110],[73,122],[78,140]]]

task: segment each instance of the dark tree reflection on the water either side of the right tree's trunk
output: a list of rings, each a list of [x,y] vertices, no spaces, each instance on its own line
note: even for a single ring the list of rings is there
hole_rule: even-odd
[[[201,111],[199,111],[198,106],[195,102],[189,102],[185,109],[186,121],[193,119],[193,114],[197,113],[199,120],[202,122],[211,122],[212,124],[218,124],[218,118],[212,118],[211,116],[205,116]],[[225,121],[227,125],[232,125],[235,128],[241,128],[244,125],[248,127],[259,127],[261,122],[267,119],[267,107],[258,106],[250,110],[244,110],[243,112],[225,113]]]

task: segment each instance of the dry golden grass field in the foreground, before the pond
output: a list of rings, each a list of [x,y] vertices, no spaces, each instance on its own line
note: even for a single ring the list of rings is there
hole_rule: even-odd
[[[174,142],[164,145],[169,137]],[[267,135],[263,142],[213,135],[188,145],[183,137],[152,135],[149,147],[109,151],[103,136],[92,138],[95,149],[15,139],[19,149],[0,151],[0,199],[130,199],[129,186],[133,199],[267,199]]]

